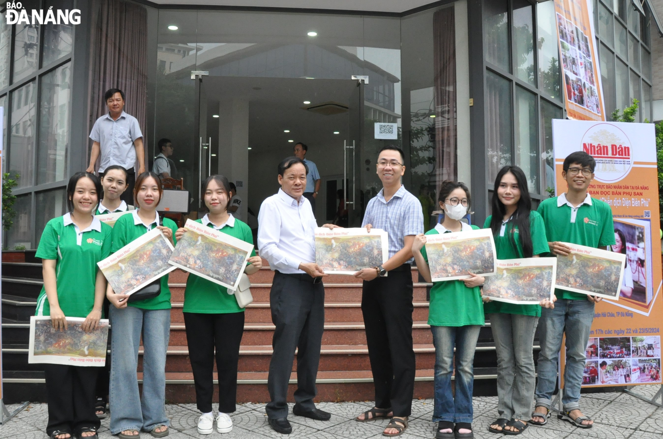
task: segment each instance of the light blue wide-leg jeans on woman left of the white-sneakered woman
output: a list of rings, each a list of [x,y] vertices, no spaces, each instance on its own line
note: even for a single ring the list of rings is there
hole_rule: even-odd
[[[166,418],[166,349],[170,338],[170,310],[111,306],[111,434],[123,430],[151,431],[168,425]],[[143,334],[143,396],[136,370]]]

